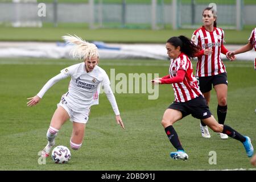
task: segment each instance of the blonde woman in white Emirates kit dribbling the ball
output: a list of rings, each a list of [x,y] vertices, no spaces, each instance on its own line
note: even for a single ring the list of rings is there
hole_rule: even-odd
[[[71,65],[64,68],[58,75],[51,78],[40,90],[36,96],[28,98],[27,106],[34,106],[42,99],[52,85],[64,78],[71,77],[68,92],[63,94],[57,109],[52,116],[49,129],[47,131],[48,143],[42,151],[43,157],[48,157],[51,148],[55,145],[55,137],[61,126],[70,119],[73,122],[73,131],[70,139],[70,146],[73,150],[78,150],[82,145],[86,123],[90,106],[94,105],[95,96],[98,90],[98,85],[101,84],[104,92],[108,97],[110,104],[115,113],[115,120],[125,129],[123,125],[117,102],[110,88],[109,77],[104,69],[98,67],[98,49],[92,44],[77,36],[63,36],[67,43],[74,44],[71,50],[71,55],[74,58],[83,60],[82,63]]]

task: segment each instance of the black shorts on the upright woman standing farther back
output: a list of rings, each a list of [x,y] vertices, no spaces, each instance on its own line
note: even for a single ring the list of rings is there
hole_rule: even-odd
[[[212,85],[226,84],[228,85],[228,78],[226,73],[220,73],[213,76],[197,77],[197,83],[202,93],[212,90]]]

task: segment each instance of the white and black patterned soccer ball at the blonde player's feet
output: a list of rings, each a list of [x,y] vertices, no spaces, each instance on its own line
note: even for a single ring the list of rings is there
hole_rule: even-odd
[[[57,146],[52,150],[52,160],[56,164],[65,164],[71,159],[71,152],[68,147]]]

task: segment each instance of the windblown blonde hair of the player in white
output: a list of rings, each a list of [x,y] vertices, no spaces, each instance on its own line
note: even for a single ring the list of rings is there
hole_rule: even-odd
[[[92,57],[98,57],[98,48],[95,44],[86,42],[82,40],[78,36],[72,36],[70,34],[62,36],[62,38],[67,43],[75,44],[75,46],[71,49],[69,55],[71,55],[75,59],[89,59],[91,60]]]

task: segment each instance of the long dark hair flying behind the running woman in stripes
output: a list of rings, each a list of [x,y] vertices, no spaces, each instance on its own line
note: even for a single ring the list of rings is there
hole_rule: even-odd
[[[180,46],[180,51],[188,57],[195,57],[195,53],[201,50],[200,47],[196,46],[190,39],[184,35],[173,36],[167,40],[167,43],[172,44],[175,48]]]

